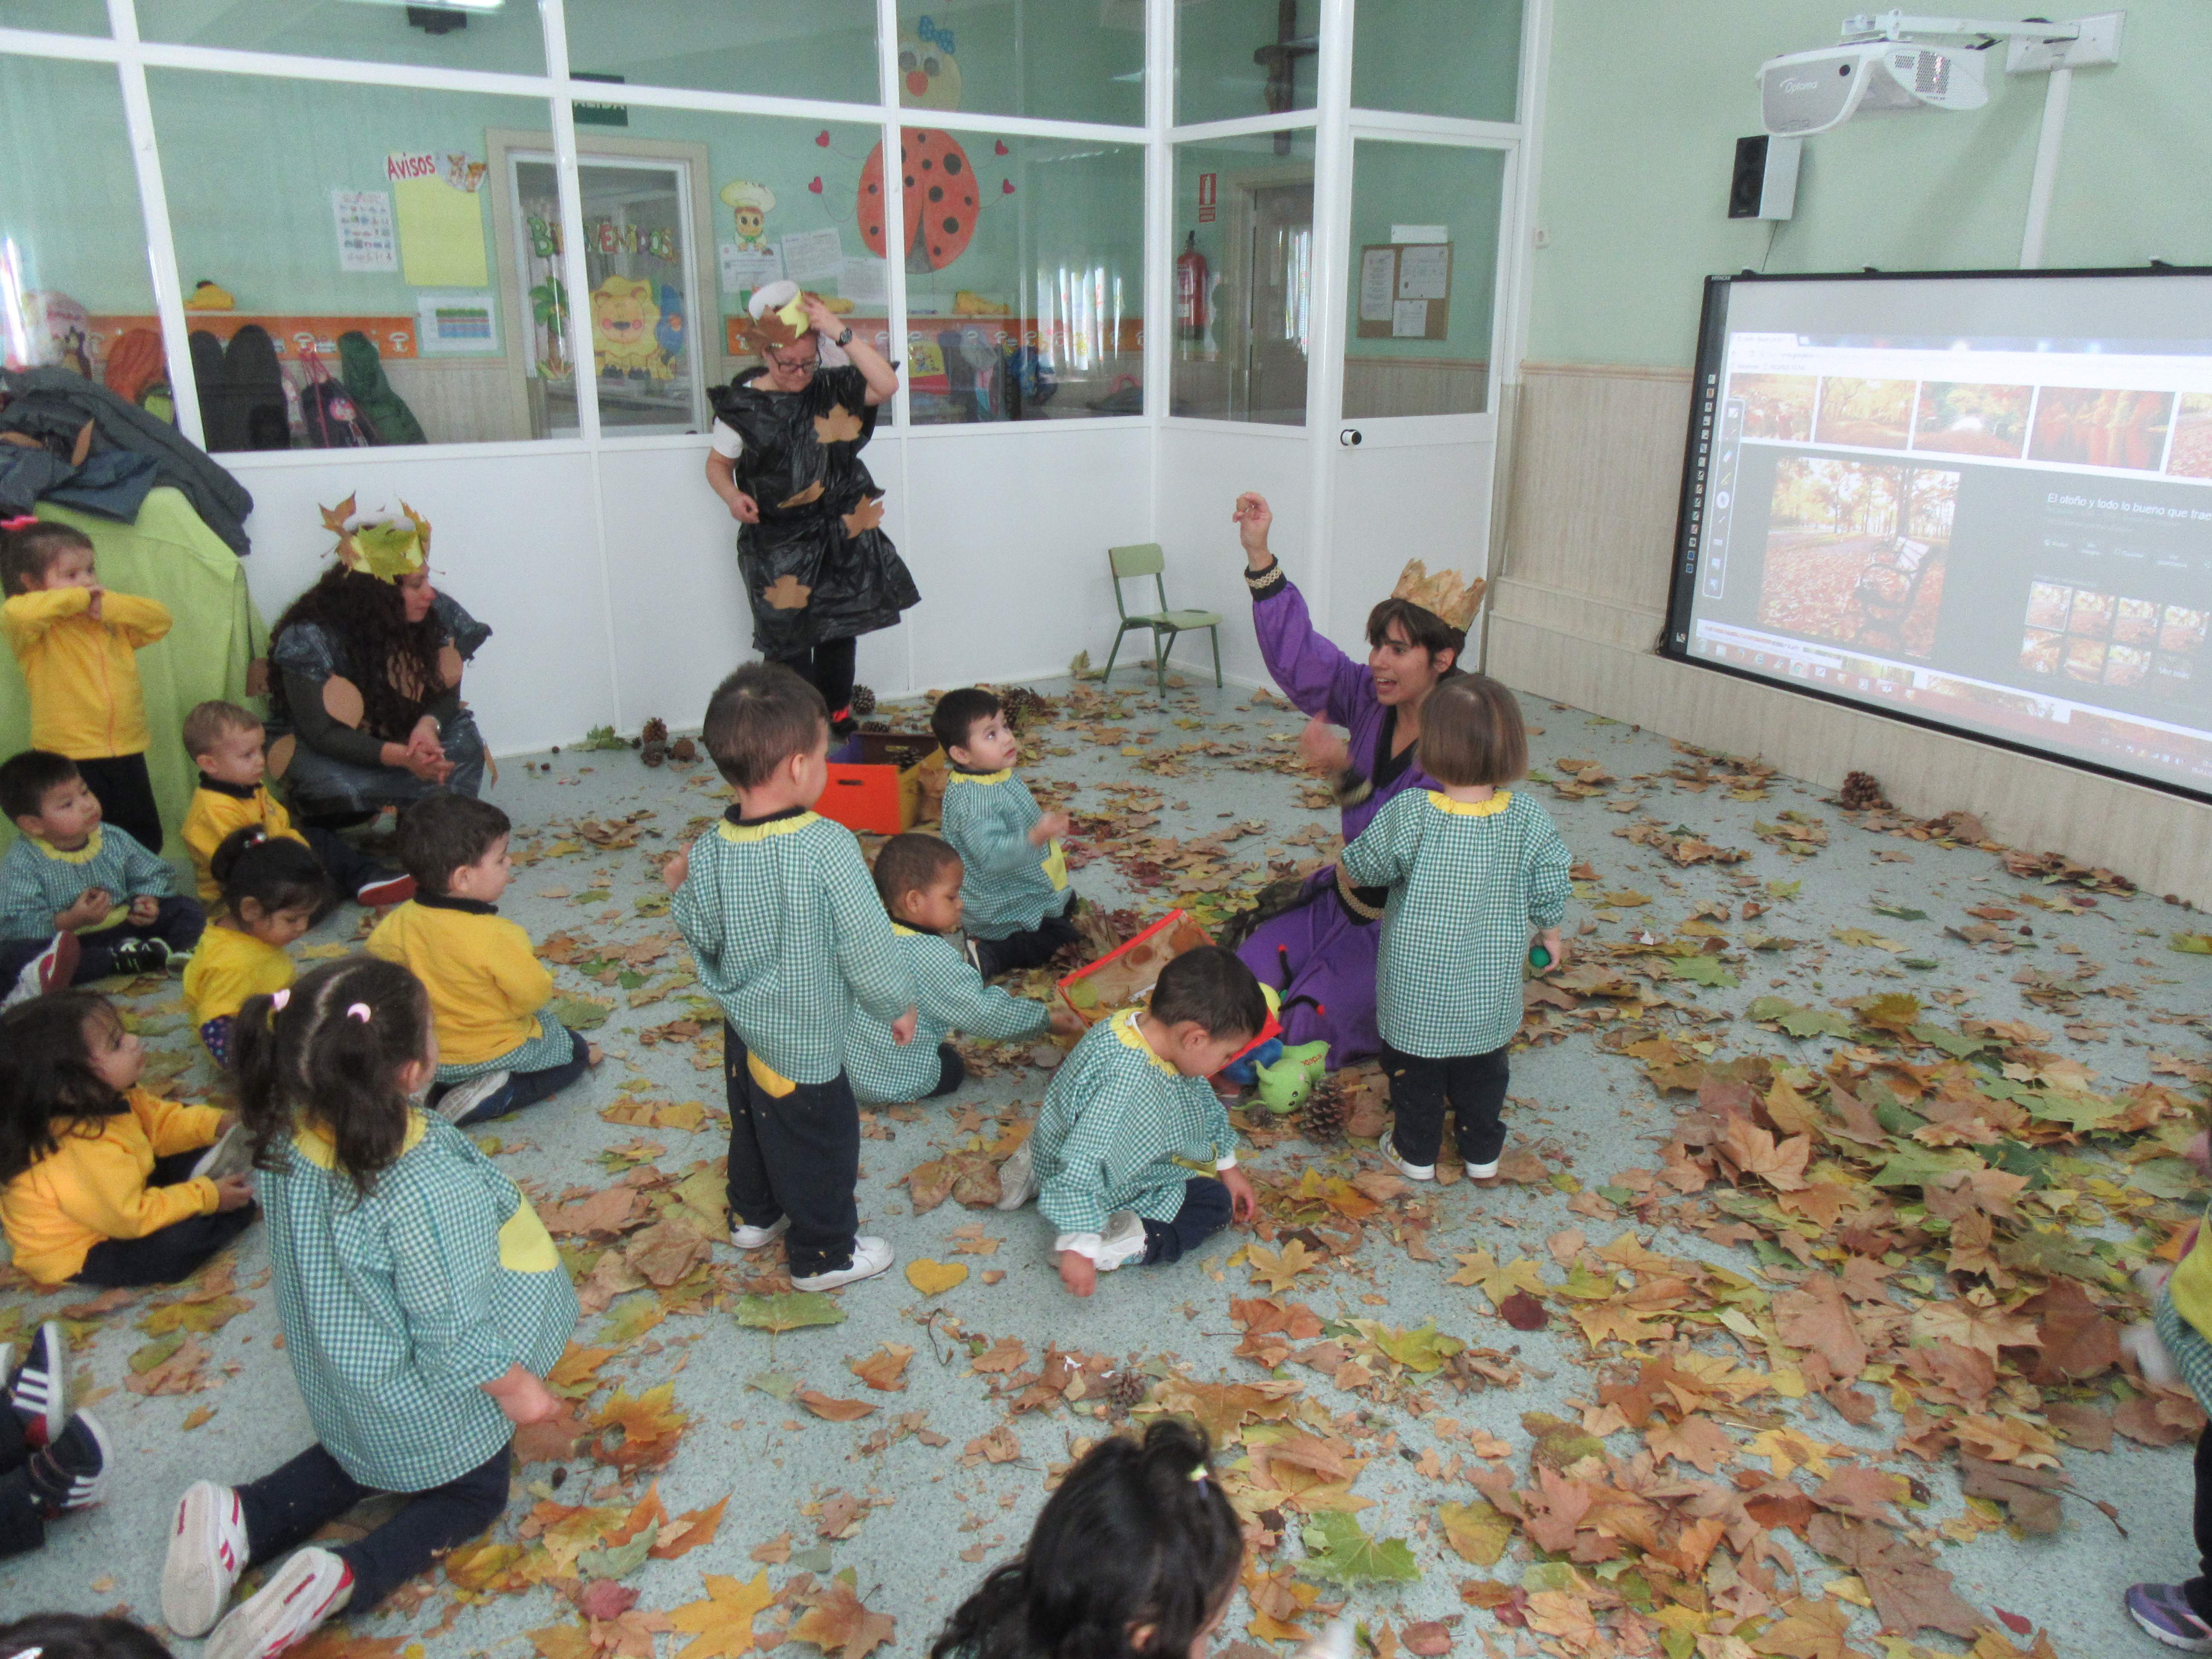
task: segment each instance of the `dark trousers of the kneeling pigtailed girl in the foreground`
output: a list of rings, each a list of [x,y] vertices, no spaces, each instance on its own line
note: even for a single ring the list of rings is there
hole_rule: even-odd
[[[414,1493],[398,1515],[367,1537],[336,1544],[332,1555],[354,1568],[347,1615],[367,1613],[442,1551],[491,1526],[507,1511],[509,1453],[511,1447],[500,1447],[458,1480]],[[374,1498],[376,1489],[345,1473],[323,1447],[307,1447],[237,1493],[246,1515],[246,1555],[268,1564],[363,1498]]]

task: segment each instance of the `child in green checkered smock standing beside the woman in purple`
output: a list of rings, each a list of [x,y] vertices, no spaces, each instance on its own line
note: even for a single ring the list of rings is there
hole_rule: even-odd
[[[1458,1119],[1469,1177],[1498,1175],[1506,1046],[1522,1020],[1528,933],[1562,956],[1573,863],[1528,796],[1520,703],[1484,675],[1453,675],[1420,706],[1420,765],[1442,787],[1407,790],[1345,847],[1343,872],[1387,887],[1376,1024],[1396,1124],[1383,1155],[1436,1179],[1444,1115]]]

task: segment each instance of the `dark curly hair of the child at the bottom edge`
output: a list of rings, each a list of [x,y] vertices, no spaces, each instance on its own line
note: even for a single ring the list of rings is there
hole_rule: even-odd
[[[1206,1451],[1206,1431],[1175,1418],[1086,1451],[929,1659],[1183,1659],[1243,1566],[1243,1526]]]

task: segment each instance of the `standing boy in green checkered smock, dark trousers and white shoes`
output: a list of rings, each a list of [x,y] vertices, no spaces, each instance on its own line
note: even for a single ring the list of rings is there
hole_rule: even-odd
[[[830,781],[830,706],[781,664],[714,688],[699,734],[737,796],[664,867],[675,918],[721,1004],[730,1095],[730,1243],[785,1243],[799,1290],[891,1265],[860,1234],[860,1108],[845,1077],[858,1013],[914,1042],[914,978],[852,830],[812,812]]]

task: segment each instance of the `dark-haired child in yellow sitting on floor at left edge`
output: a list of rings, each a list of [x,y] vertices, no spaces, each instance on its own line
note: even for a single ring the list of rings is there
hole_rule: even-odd
[[[161,1099],[144,1071],[104,995],[0,1013],[0,1223],[42,1285],[168,1285],[254,1219],[250,1175],[192,1175],[228,1113]]]

